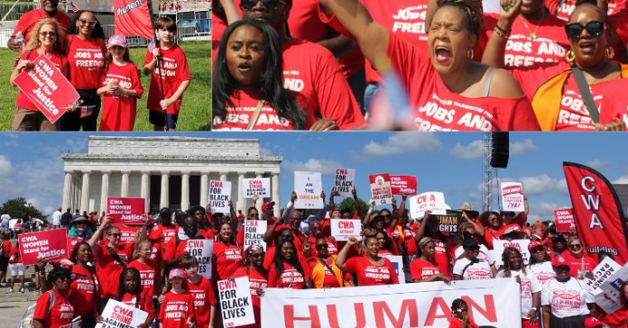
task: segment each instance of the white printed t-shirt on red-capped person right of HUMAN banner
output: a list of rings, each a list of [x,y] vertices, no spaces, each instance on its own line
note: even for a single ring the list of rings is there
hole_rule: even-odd
[[[596,303],[591,289],[576,278],[567,282],[553,278],[540,292],[540,304],[550,305],[551,313],[559,318],[590,314],[587,303]]]

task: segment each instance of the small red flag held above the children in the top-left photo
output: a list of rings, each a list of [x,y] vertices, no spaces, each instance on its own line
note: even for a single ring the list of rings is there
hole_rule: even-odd
[[[151,12],[148,0],[114,0],[115,34],[152,39]]]

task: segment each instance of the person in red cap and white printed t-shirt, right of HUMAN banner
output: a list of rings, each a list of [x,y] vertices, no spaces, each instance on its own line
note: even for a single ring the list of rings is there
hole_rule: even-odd
[[[562,256],[551,260],[556,278],[540,293],[543,328],[584,328],[589,316],[596,316],[596,302],[584,281],[569,277],[569,265]]]

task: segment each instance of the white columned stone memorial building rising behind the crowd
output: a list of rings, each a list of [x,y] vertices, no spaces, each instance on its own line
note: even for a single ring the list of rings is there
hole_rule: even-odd
[[[231,181],[235,211],[246,214],[251,199],[243,178],[271,178],[272,200],[280,203],[281,156],[260,156],[253,139],[90,136],[87,153],[61,155],[63,211],[106,211],[106,197],[142,197],[148,211],[182,211],[208,204],[210,180]],[[269,200],[269,199],[266,199]],[[258,201],[258,209],[262,205]],[[279,206],[274,207],[279,216]]]

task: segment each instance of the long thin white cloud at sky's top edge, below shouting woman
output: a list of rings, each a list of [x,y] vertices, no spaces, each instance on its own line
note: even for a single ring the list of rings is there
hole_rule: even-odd
[[[442,143],[435,133],[402,132],[392,134],[383,143],[370,141],[362,151],[365,155],[390,156],[416,150],[438,150],[441,147]]]

